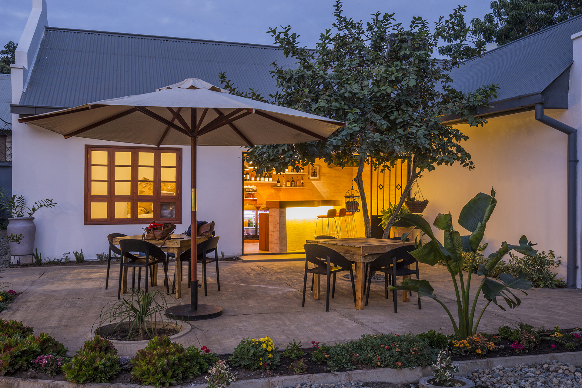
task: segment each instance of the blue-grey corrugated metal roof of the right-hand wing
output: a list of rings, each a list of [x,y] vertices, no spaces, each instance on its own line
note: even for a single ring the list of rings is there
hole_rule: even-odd
[[[453,69],[453,87],[469,92],[499,84],[496,101],[543,91],[572,64],[572,35],[582,15],[485,52]]]

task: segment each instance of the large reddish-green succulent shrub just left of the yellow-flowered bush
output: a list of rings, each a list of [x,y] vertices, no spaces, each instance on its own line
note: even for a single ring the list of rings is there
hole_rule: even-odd
[[[184,349],[167,336],[154,337],[131,359],[132,377],[155,387],[183,383],[184,379],[193,379],[207,372],[218,360],[215,353],[207,350],[194,346]]]

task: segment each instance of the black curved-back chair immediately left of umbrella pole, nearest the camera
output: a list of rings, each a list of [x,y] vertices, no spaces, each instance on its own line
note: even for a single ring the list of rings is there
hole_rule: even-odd
[[[153,286],[154,276],[150,269],[153,265],[158,265],[162,263],[164,265],[164,284],[166,286],[166,292],[170,294],[169,284],[168,284],[168,259],[166,254],[160,248],[156,247],[152,243],[148,243],[144,240],[133,240],[133,239],[123,239],[119,241],[119,247],[121,248],[121,257],[127,257],[128,262],[123,262],[120,260],[119,265],[119,292],[117,298],[121,298],[121,282],[123,280],[123,267],[129,267],[133,269],[132,275],[132,289],[136,284],[136,268],[139,269],[137,278],[137,289],[140,289],[141,282],[141,269],[145,268],[145,292],[147,293],[147,280],[148,280],[148,270],[150,271],[150,282]],[[136,256],[130,252],[139,252],[144,255],[144,259]]]

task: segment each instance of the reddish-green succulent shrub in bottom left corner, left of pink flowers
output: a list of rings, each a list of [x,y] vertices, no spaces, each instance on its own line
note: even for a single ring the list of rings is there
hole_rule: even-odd
[[[28,328],[26,328],[28,329]],[[0,339],[0,375],[29,369],[39,355],[63,356],[67,348],[46,333],[34,337],[13,334]]]

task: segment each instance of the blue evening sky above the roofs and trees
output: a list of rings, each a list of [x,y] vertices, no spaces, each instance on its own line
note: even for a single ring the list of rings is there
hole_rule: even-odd
[[[287,26],[315,47],[319,35],[333,23],[333,0],[47,0],[52,27],[164,35],[256,44],[272,44],[269,27]],[[458,0],[357,1],[346,0],[346,15],[368,20],[377,12],[396,12],[396,20],[409,23],[422,16],[431,23],[448,15]],[[489,1],[468,0],[467,20],[489,12]],[[0,44],[18,42],[32,0],[0,0]]]

